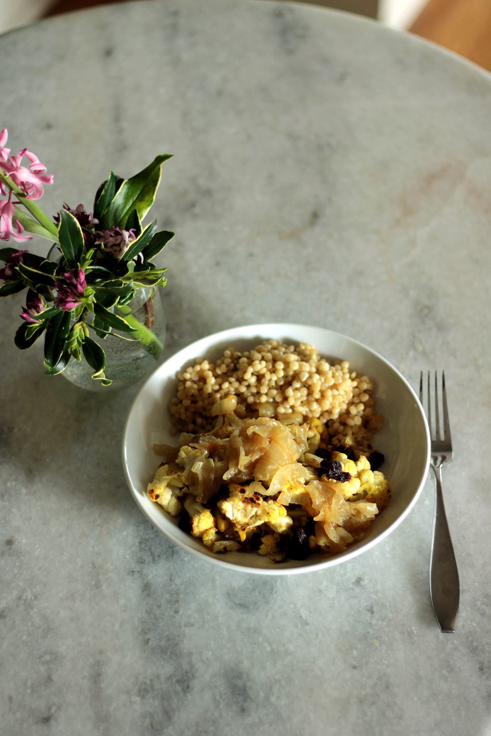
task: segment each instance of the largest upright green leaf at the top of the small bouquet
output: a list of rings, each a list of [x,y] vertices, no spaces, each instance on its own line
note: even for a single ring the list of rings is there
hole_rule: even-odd
[[[157,156],[145,169],[131,179],[124,180],[102,216],[102,227],[105,229],[111,225],[125,227],[132,210],[138,212],[141,220],[144,219],[155,201],[155,193],[162,175],[160,167],[169,158],[172,157],[167,154]]]

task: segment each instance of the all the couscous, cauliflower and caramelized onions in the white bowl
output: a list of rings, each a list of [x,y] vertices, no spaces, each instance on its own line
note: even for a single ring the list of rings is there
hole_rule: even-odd
[[[257,551],[277,562],[339,553],[370,532],[389,502],[372,450],[381,427],[373,383],[311,345],[234,348],[178,375],[169,403],[180,447],[147,495],[213,553]]]

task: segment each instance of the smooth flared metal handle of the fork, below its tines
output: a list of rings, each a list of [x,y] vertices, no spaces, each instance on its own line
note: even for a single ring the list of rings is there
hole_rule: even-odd
[[[455,631],[459,611],[459,572],[443,504],[442,466],[433,467],[433,470],[437,486],[430,553],[430,596],[440,629],[450,632]]]

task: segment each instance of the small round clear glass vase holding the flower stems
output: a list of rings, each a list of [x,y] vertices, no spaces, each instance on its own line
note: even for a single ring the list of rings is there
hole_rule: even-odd
[[[106,355],[105,377],[110,378],[113,383],[102,386],[101,381],[94,380],[93,369],[82,355],[81,361],[72,358],[62,373],[68,381],[82,389],[106,392],[124,389],[154,368],[163,350],[166,320],[159,286],[137,289],[131,302],[120,307],[116,305],[114,311],[124,317],[130,327],[136,328],[136,332],[112,330],[102,340],[89,326],[91,338],[102,347]]]

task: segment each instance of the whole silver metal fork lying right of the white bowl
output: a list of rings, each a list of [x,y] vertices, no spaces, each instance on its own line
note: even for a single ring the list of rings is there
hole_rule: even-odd
[[[433,534],[430,553],[430,597],[434,614],[443,632],[455,631],[455,622],[459,611],[459,572],[453,553],[450,531],[445,515],[442,494],[442,465],[452,459],[452,441],[450,422],[448,421],[447,392],[445,391],[445,373],[442,371],[442,407],[443,435],[440,435],[438,409],[438,380],[435,371],[435,439],[431,434],[431,386],[428,371],[428,425],[431,436],[431,467],[434,470],[436,484],[435,509],[433,517]],[[420,376],[420,403],[423,406],[423,371]]]

